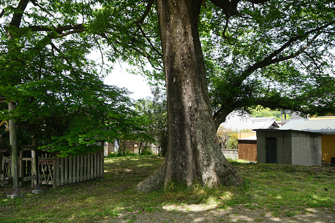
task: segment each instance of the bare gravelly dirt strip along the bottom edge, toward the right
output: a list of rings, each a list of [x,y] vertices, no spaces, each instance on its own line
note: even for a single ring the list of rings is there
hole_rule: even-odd
[[[262,223],[335,223],[332,208],[308,208],[305,213],[276,216],[268,209],[249,208],[243,205],[218,209],[215,206],[183,205],[164,206],[160,211],[126,212],[114,220],[117,223],[219,223],[219,222],[262,222]]]

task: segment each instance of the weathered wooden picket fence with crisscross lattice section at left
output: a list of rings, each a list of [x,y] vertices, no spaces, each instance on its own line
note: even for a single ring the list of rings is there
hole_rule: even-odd
[[[24,150],[23,150],[24,151]],[[20,180],[36,179],[33,173],[33,158],[23,157],[20,152],[18,168]],[[2,158],[2,157],[1,157]],[[10,157],[3,157],[0,181],[9,180],[11,176]],[[96,151],[77,157],[59,158],[55,154],[39,153],[38,158],[39,183],[52,185],[53,189],[71,183],[103,177],[103,151]],[[33,186],[33,182],[32,182]]]

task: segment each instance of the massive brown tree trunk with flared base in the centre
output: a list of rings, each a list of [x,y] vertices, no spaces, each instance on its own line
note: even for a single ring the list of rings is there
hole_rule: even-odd
[[[201,2],[157,0],[168,99],[168,152],[159,170],[135,190],[157,190],[171,180],[209,187],[243,183],[216,138],[198,32]]]

